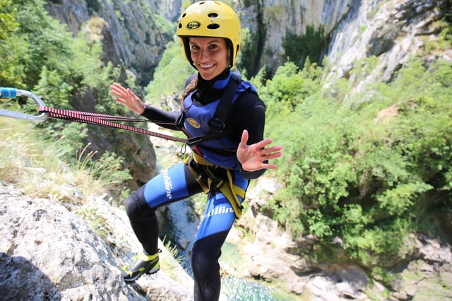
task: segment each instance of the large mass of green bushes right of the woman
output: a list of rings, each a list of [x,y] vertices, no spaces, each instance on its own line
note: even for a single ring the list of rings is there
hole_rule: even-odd
[[[373,64],[364,60],[354,72],[365,78]],[[267,135],[283,144],[285,188],[264,210],[295,237],[315,235],[319,257],[368,268],[391,266],[411,252],[400,244],[409,232],[441,235],[418,214],[438,206],[452,211],[451,64],[436,61],[427,70],[414,59],[393,83],[374,85],[370,98],[349,95],[347,102],[345,79],[308,93],[309,76],[289,64],[280,69],[261,90],[271,110]],[[334,237],[343,240],[345,256],[331,256]]]

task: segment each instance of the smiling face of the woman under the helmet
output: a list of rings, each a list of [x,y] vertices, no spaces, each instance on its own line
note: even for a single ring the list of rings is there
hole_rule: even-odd
[[[229,68],[226,40],[222,37],[190,37],[190,55],[201,77],[210,81]]]

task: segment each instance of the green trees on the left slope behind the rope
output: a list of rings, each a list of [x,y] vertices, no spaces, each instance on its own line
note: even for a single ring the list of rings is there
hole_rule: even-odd
[[[120,69],[103,61],[101,37],[105,20],[91,18],[78,36],[72,37],[66,26],[49,16],[44,4],[42,0],[0,2],[0,14],[5,17],[0,21],[1,85],[30,90],[48,107],[73,110],[73,95],[88,95],[95,100],[96,112],[126,114],[124,106],[114,102],[109,92],[109,85],[119,79]],[[129,78],[126,81],[130,83]],[[35,102],[28,98],[2,101],[1,105],[30,114],[37,111]],[[37,127],[42,130],[44,138],[59,144],[61,160],[73,164],[76,163],[76,150],[87,143],[88,130],[91,133],[97,131],[99,135],[107,131],[58,119],[47,119]],[[118,151],[121,143],[114,146],[117,147],[114,151]],[[99,154],[97,161],[88,161],[88,168],[98,168],[96,164],[101,162],[112,164],[105,156],[119,163],[123,160],[115,153]],[[113,194],[121,193],[114,183],[129,179],[122,172],[127,170],[108,174],[108,177],[117,178],[109,182]]]

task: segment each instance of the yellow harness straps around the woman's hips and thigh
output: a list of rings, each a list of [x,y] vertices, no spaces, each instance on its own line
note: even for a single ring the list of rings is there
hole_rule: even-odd
[[[213,175],[213,173],[210,172],[210,169],[206,168],[206,171],[208,172],[208,181],[206,183],[201,178],[201,175],[198,175],[198,172],[196,172],[196,170],[194,170],[194,168],[191,167],[190,165],[191,158],[193,158],[193,160],[200,165],[213,167],[215,169],[216,168],[225,169],[227,173],[227,181],[215,177],[215,175]],[[197,153],[192,153],[190,157],[186,158],[185,163],[189,165],[191,173],[196,178],[196,181],[198,181],[198,183],[201,185],[201,188],[203,189],[204,193],[207,194],[210,191],[210,187],[214,182],[213,179],[215,179],[215,182],[218,182],[218,184],[216,184],[216,188],[220,189],[221,193],[226,197],[227,201],[230,202],[232,209],[234,210],[235,216],[237,216],[237,218],[240,218],[240,216],[242,216],[242,204],[240,203],[239,198],[237,196],[240,196],[242,199],[245,199],[246,191],[242,189],[242,187],[234,185],[234,182],[232,181],[232,174],[229,169],[220,167],[218,165],[213,165],[212,163],[208,162]]]

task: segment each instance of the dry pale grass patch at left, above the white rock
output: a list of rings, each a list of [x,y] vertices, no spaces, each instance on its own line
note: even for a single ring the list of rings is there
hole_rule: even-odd
[[[64,162],[64,142],[45,140],[33,123],[0,117],[0,181],[32,197],[83,204],[130,177],[121,170],[121,158],[107,153],[94,161],[95,152],[86,152],[89,145],[74,153],[75,164]]]

